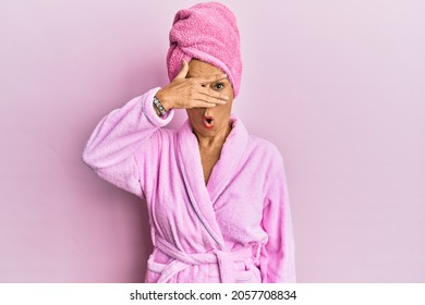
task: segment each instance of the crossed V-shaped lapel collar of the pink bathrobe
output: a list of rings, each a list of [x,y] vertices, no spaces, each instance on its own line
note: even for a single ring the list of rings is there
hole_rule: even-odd
[[[234,174],[248,136],[236,117],[232,115],[231,121],[232,131],[224,142],[220,159],[212,169],[207,186],[204,183],[198,143],[189,120],[178,133],[178,161],[192,208],[222,251],[226,251],[224,239],[216,219],[214,203]]]

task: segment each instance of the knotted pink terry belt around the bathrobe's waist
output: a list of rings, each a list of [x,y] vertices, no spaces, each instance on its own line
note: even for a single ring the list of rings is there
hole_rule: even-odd
[[[165,283],[180,271],[186,269],[192,265],[217,264],[220,272],[220,281],[222,283],[235,282],[235,261],[245,261],[253,258],[253,251],[251,247],[243,248],[238,252],[223,252],[215,249],[209,253],[184,253],[177,249],[166,240],[157,236],[156,247],[172,257],[173,260],[168,263],[166,267],[162,264],[155,264],[151,261],[150,268],[153,271],[160,272],[158,283]]]

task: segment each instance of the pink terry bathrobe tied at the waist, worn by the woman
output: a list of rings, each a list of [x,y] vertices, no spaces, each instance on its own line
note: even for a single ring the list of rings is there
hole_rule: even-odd
[[[270,143],[232,131],[207,185],[189,121],[161,129],[159,88],[105,117],[83,159],[148,205],[154,252],[146,282],[294,282],[294,240],[283,162]]]

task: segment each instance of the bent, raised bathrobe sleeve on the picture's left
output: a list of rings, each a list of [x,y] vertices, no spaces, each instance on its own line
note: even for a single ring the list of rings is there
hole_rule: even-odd
[[[155,171],[158,159],[156,132],[173,117],[173,110],[165,119],[157,115],[153,98],[158,90],[150,89],[101,119],[83,152],[83,161],[100,178],[141,197],[144,173]],[[138,163],[149,159],[150,163]]]

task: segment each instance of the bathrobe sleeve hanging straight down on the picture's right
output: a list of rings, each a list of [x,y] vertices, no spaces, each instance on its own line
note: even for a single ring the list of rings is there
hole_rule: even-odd
[[[266,181],[263,228],[268,234],[260,252],[264,283],[295,282],[294,237],[283,160],[276,152]]]

